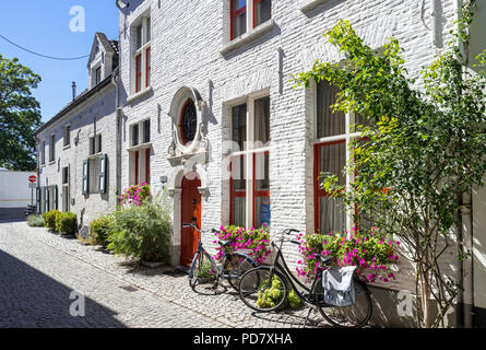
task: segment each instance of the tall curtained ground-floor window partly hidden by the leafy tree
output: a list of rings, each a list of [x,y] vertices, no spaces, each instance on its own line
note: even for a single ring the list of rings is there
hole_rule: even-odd
[[[332,110],[339,89],[322,81],[316,86],[316,139],[313,143],[313,188],[316,232],[345,232],[352,225],[351,213],[345,212],[344,203],[321,188],[319,174],[322,172],[337,176],[339,185],[346,185],[351,175],[343,173],[349,160],[348,144],[352,125],[367,125],[366,119],[354,113]]]

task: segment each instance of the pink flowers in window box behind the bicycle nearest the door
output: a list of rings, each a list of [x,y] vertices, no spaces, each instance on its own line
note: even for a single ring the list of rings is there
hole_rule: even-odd
[[[228,247],[228,253],[233,253],[240,249],[248,249],[250,256],[261,264],[266,256],[270,255],[270,232],[265,225],[262,229],[246,229],[238,226],[221,226],[218,232],[214,233],[217,240],[232,241]],[[213,241],[213,243],[217,243]],[[223,248],[217,247],[217,253],[214,258],[221,261],[223,257]]]

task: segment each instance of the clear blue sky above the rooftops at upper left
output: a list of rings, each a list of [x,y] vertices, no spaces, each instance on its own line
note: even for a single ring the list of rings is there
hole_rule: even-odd
[[[85,32],[70,30],[72,7],[85,10]],[[10,40],[47,56],[80,57],[90,55],[96,32],[118,39],[118,9],[112,0],[15,0],[2,1],[0,34]],[[43,120],[49,120],[72,100],[71,84],[78,94],[87,86],[87,58],[58,61],[21,50],[0,37],[0,55],[17,57],[43,79],[34,96],[40,103]]]

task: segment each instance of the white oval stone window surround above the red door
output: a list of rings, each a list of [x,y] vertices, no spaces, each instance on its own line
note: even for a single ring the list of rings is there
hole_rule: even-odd
[[[185,142],[182,136],[182,112],[187,106],[189,100],[192,100],[195,107],[195,135],[190,142]],[[182,154],[194,153],[201,142],[201,124],[202,124],[202,106],[203,101],[199,92],[190,86],[180,88],[173,97],[170,104],[170,117],[173,118],[173,126],[176,130],[174,132],[175,143],[177,150]]]

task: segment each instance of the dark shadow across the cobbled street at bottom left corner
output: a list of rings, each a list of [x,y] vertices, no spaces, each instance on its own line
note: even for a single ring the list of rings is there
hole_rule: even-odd
[[[73,290],[0,250],[0,328],[125,328],[116,313],[85,298],[85,316],[71,316]],[[72,296],[72,299],[70,299]]]

